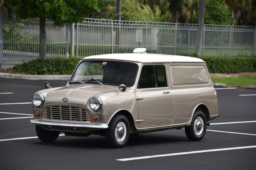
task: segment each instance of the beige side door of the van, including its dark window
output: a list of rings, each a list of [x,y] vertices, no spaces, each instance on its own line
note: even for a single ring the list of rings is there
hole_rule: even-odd
[[[167,85],[164,65],[144,65],[136,89],[140,128],[170,125],[173,97]]]

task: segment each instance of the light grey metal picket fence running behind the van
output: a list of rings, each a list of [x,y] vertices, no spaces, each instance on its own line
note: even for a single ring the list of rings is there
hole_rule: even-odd
[[[39,19],[1,14],[0,62],[22,64],[39,56]],[[70,27],[46,21],[46,58],[86,57],[109,53],[189,55],[196,52],[197,24],[118,21],[85,18]],[[255,56],[256,27],[204,25],[203,56]]]

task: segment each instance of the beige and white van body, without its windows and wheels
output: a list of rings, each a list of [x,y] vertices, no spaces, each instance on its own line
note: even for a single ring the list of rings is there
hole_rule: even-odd
[[[172,128],[181,129],[189,126],[193,114],[198,109],[204,111],[207,122],[219,116],[216,92],[207,66],[201,59],[163,54],[132,53],[85,57],[80,63],[88,61],[133,63],[138,66],[135,83],[131,87],[127,87],[124,92],[119,91],[118,86],[110,84],[103,83],[103,86],[96,82],[94,84],[70,84],[70,81],[65,87],[41,90],[39,93],[44,97],[44,104],[42,107],[33,105],[33,114],[35,115],[35,112],[41,114],[39,117],[34,116],[34,120],[31,120],[32,124],[45,130],[93,132],[95,134],[95,130],[105,129],[100,128],[100,126],[98,128],[97,125],[108,127],[116,115],[122,114],[130,122],[130,133],[145,133]],[[159,68],[163,67],[165,71],[165,74],[158,77],[159,84],[161,83],[162,86],[139,88],[138,83],[143,66],[152,66],[157,71],[158,65],[161,65]],[[158,74],[160,72],[162,71],[159,71]],[[93,111],[89,107],[89,101],[93,96],[99,97],[102,101],[102,107],[99,111]],[[68,98],[67,102],[62,100],[64,97]],[[75,121],[76,119],[72,120],[73,118],[70,118],[69,121],[61,120],[61,118],[55,120],[53,119],[53,111],[50,111],[55,105],[61,108],[70,105],[70,110],[75,106],[75,109],[80,109],[80,114],[82,110],[86,110],[86,114],[90,118],[87,119],[88,121]],[[48,117],[47,115],[43,116],[46,108],[49,110]],[[70,114],[72,115],[72,113]],[[93,116],[97,116],[98,119],[94,120]],[[57,122],[58,124],[49,126],[47,125],[48,122]],[[94,128],[85,126],[85,128],[72,129],[63,125],[60,128],[61,123],[96,126]]]

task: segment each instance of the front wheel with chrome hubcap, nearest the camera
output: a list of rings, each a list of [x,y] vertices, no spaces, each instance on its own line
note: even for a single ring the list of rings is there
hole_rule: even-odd
[[[122,148],[126,145],[130,136],[129,120],[124,115],[116,115],[109,123],[105,131],[105,138],[111,148]]]

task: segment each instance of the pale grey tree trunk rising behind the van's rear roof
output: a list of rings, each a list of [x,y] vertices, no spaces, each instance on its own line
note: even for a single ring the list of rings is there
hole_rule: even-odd
[[[202,48],[202,42],[203,42],[204,13],[205,13],[205,0],[200,0],[199,12],[198,12],[197,46],[196,46],[197,56],[201,56],[201,48]]]

